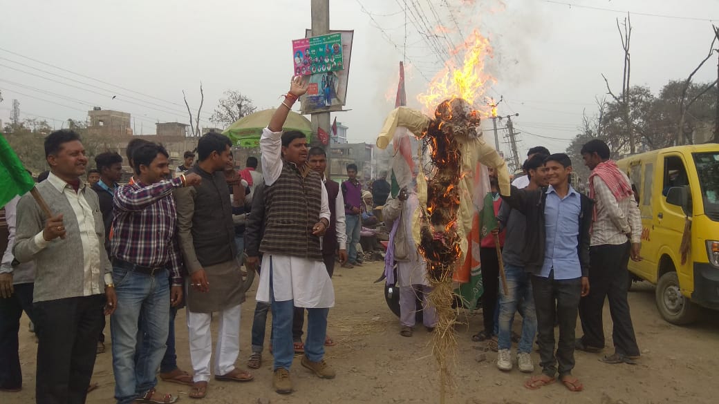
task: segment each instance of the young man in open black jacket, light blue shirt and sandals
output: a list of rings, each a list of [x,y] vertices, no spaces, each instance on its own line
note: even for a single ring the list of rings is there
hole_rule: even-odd
[[[564,153],[546,157],[548,188],[520,190],[512,187],[505,198],[526,216],[523,260],[531,272],[539,335],[542,374],[525,384],[529,389],[556,379],[570,391],[581,391],[572,376],[574,328],[580,297],[589,293],[589,246],[593,202],[569,185],[572,161]],[[559,343],[554,355],[554,321],[559,322]],[[557,367],[559,364],[559,368]]]

